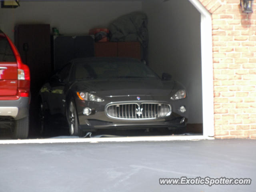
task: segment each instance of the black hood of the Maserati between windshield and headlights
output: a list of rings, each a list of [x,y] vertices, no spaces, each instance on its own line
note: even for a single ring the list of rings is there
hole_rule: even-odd
[[[174,81],[160,79],[114,79],[82,80],[75,83],[76,91],[95,92],[97,96],[127,95],[168,95],[174,87]]]

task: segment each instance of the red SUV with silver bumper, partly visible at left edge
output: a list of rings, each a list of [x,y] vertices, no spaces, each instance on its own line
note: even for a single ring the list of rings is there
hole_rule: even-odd
[[[0,30],[0,128],[25,139],[29,130],[30,72],[10,38]]]

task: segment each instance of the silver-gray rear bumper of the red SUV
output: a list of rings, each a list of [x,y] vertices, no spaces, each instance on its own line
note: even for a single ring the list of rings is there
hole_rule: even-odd
[[[29,115],[29,98],[20,97],[18,100],[0,100],[1,116],[10,116],[14,120],[22,119]]]

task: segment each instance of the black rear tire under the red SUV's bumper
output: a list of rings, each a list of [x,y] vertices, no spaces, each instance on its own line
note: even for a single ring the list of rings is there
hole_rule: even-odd
[[[29,130],[29,116],[15,120],[14,128],[12,129],[12,138],[13,139],[26,139],[28,138]]]

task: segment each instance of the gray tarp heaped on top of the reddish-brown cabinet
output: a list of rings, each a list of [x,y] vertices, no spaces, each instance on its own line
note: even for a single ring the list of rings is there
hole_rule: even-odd
[[[132,12],[120,16],[110,24],[113,42],[140,42],[148,46],[148,18],[143,12]]]

